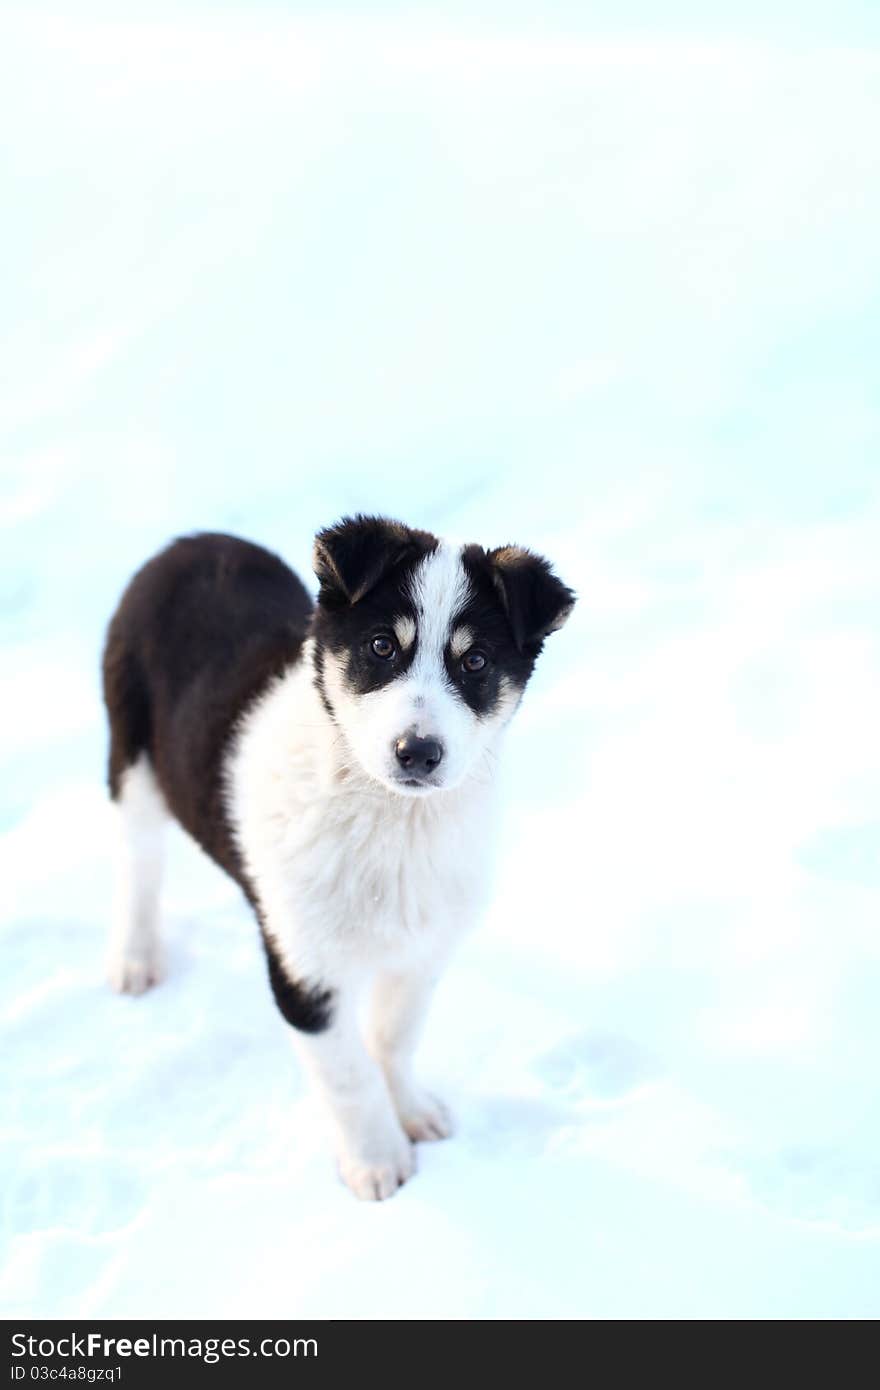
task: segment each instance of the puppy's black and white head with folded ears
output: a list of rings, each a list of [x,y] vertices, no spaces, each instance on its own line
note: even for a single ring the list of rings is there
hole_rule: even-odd
[[[400,795],[457,787],[485,762],[574,595],[516,546],[449,546],[384,517],[314,545],[316,681],[366,773]]]

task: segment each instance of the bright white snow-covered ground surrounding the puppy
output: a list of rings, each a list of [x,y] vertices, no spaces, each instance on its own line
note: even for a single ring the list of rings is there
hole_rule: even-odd
[[[880,1314],[870,15],[478,10],[4,13],[7,1315]],[[357,507],[581,595],[378,1207],[182,837],[167,983],[101,979],[125,578]]]

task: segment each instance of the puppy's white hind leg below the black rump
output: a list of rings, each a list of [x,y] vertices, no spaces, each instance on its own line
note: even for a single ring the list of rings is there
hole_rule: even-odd
[[[118,778],[117,883],[108,973],[121,994],[143,994],[163,974],[158,890],[168,820],[146,753]]]

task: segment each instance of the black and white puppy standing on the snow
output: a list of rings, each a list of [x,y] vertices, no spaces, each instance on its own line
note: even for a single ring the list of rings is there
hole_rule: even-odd
[[[381,517],[321,531],[314,570],[313,606],[277,556],[193,535],[122,596],[103,667],[121,827],[111,980],[140,994],[160,979],[175,816],[256,912],[343,1180],[382,1198],[413,1173],[414,1140],[450,1133],[412,1058],[481,906],[499,738],[574,595],[528,550]]]

